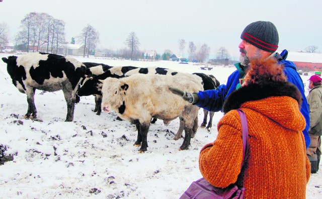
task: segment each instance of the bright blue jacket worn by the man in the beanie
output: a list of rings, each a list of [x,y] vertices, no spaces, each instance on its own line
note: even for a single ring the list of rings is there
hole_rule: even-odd
[[[287,54],[287,52],[286,52]],[[286,57],[285,57],[286,58]],[[284,59],[279,60],[279,63],[284,64],[284,73],[287,76],[287,80],[299,89],[299,91],[302,94],[302,107],[301,107],[301,113],[305,118],[306,121],[306,127],[303,130],[303,135],[305,139],[305,145],[306,148],[310,145],[310,137],[308,135],[308,129],[309,129],[309,109],[308,104],[306,101],[305,93],[304,93],[304,85],[301,77],[296,71],[296,67],[293,62],[287,61]],[[199,91],[197,94],[199,96],[199,101],[195,104],[196,106],[206,109],[208,111],[212,112],[218,112],[221,111],[223,102],[225,101],[226,97],[236,89],[237,84],[239,83],[239,78],[243,78],[245,76],[245,66],[240,65],[240,63],[236,63],[235,67],[237,70],[235,70],[227,80],[227,84],[222,84],[218,87],[218,89],[212,89],[212,90],[205,90],[205,91]]]

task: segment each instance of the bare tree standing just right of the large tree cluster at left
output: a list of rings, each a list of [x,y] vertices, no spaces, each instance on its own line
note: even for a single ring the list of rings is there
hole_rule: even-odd
[[[84,54],[87,53],[87,57],[89,57],[90,50],[95,49],[96,44],[99,42],[99,33],[93,28],[91,25],[87,25],[82,30],[81,35],[78,36],[78,41],[84,44]]]

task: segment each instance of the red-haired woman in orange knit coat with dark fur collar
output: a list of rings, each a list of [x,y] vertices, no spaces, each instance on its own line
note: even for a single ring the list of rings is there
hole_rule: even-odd
[[[243,79],[240,79],[243,80]],[[301,131],[301,94],[274,58],[255,59],[242,87],[226,99],[218,136],[200,152],[203,177],[216,187],[235,183],[246,188],[245,198],[305,198],[310,176]],[[246,114],[249,148],[243,161],[240,117]]]

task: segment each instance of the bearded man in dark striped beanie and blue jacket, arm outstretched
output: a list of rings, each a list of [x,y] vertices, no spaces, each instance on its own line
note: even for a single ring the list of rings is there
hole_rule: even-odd
[[[301,77],[296,71],[293,62],[285,60],[287,57],[287,50],[281,54],[277,53],[278,48],[278,32],[272,22],[258,21],[248,25],[240,35],[241,42],[239,44],[240,62],[235,64],[235,70],[227,80],[227,84],[222,84],[218,89],[200,91],[198,93],[187,93],[185,91],[178,91],[180,95],[184,95],[184,99],[188,102],[212,112],[221,111],[222,105],[229,94],[240,87],[239,78],[244,78],[248,70],[248,65],[254,58],[268,58],[274,57],[278,63],[284,65],[284,73],[287,80],[293,83],[300,91],[303,103],[301,113],[303,114],[306,127],[303,130],[306,147],[310,144],[310,137],[308,135],[309,128],[309,111],[304,93],[304,85]]]

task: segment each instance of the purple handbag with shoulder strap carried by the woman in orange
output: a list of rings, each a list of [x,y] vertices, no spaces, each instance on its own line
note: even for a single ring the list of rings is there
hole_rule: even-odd
[[[236,110],[240,116],[241,127],[243,128],[243,163],[241,163],[240,169],[244,165],[245,153],[248,145],[248,124],[247,118],[243,110]],[[235,184],[230,184],[225,188],[218,188],[211,185],[205,178],[200,178],[197,181],[192,182],[189,188],[181,195],[180,199],[203,199],[203,198],[215,198],[215,199],[241,199],[244,197],[245,188],[239,188]]]

